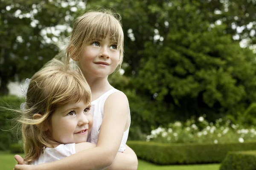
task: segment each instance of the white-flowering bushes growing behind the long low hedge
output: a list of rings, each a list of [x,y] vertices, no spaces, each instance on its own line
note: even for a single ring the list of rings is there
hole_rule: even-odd
[[[227,143],[256,140],[256,127],[244,127],[233,124],[230,120],[217,119],[215,123],[208,122],[201,116],[188,119],[185,123],[170,123],[167,128],[158,127],[151,130],[147,141],[163,143]]]

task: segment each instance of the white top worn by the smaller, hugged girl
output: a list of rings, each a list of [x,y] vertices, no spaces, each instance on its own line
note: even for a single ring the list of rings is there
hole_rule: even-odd
[[[46,147],[44,152],[40,154],[38,159],[35,159],[30,164],[44,164],[52,161],[57,161],[63,159],[67,156],[73,155],[76,153],[75,143],[71,144],[60,144],[55,148]]]

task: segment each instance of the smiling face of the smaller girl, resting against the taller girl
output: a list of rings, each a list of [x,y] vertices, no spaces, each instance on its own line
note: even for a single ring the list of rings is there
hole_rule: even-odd
[[[49,122],[51,137],[61,144],[86,142],[93,125],[90,103],[67,103],[52,113]]]

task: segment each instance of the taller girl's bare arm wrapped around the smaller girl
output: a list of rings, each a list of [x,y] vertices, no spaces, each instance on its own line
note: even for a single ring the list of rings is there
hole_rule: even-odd
[[[111,94],[105,102],[104,117],[95,148],[82,150],[64,159],[39,164],[30,169],[16,165],[15,170],[101,170],[109,167],[121,144],[128,119],[128,99],[122,92]]]

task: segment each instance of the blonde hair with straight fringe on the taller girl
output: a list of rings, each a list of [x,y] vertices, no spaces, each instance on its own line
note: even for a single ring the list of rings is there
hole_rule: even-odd
[[[113,14],[107,10],[88,11],[75,20],[70,42],[57,57],[64,57],[65,62],[69,63],[71,56],[81,54],[84,45],[92,40],[110,38],[120,50],[118,63],[120,66],[124,55],[124,33],[120,21],[121,16],[119,14]],[[72,51],[70,53],[71,46]]]

